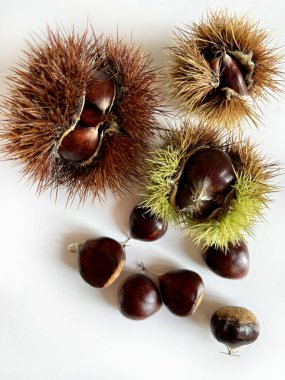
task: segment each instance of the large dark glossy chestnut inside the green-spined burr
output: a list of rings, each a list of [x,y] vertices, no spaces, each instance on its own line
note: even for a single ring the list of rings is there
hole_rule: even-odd
[[[228,204],[235,181],[230,156],[221,149],[203,147],[182,165],[170,202],[193,219],[211,219]]]

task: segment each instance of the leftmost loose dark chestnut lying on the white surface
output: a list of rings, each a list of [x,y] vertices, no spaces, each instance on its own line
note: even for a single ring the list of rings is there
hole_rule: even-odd
[[[96,288],[111,285],[120,275],[125,261],[122,245],[108,237],[87,240],[79,249],[79,272]]]

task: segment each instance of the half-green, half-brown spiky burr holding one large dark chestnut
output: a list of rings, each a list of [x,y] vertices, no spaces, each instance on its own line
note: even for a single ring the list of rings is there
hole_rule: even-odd
[[[163,136],[149,159],[142,206],[203,248],[226,251],[246,240],[263,220],[277,190],[277,174],[278,165],[240,133],[226,135],[185,121]]]

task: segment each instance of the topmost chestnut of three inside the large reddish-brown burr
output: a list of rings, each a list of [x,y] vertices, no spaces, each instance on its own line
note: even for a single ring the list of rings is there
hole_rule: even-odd
[[[105,71],[96,71],[89,82],[85,101],[98,107],[103,113],[113,106],[116,97],[116,83]]]

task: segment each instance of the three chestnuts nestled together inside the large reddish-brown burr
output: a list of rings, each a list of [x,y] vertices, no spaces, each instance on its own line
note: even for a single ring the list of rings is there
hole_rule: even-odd
[[[97,71],[87,85],[79,115],[74,116],[57,146],[64,160],[78,165],[91,164],[99,155],[103,138],[108,130],[118,125],[112,115],[116,99],[116,82],[107,72]]]

